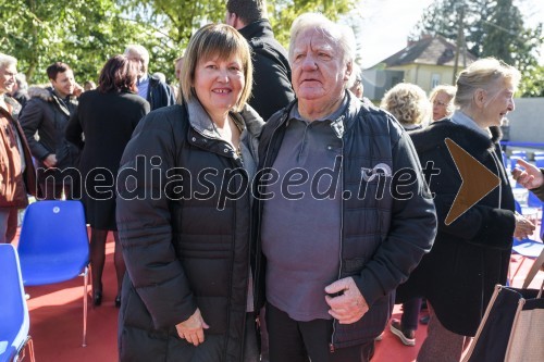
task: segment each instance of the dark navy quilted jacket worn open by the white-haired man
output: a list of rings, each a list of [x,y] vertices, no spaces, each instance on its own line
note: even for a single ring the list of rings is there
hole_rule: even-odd
[[[259,168],[273,165],[293,105],[267,122],[259,146]],[[371,341],[383,332],[393,309],[395,288],[408,278],[423,254],[431,249],[436,234],[436,215],[416,150],[393,115],[351,97],[336,129],[343,139],[339,187],[342,195],[348,196],[342,207],[342,270],[338,279],[353,276],[370,305],[369,312],[355,324],[335,322],[331,344],[334,348],[342,348]],[[364,177],[363,174],[376,170],[376,166],[388,167],[388,175],[385,178]],[[392,180],[395,174],[399,175],[397,172],[408,168],[413,171],[415,178],[399,190],[411,192],[413,197],[403,198],[392,191],[395,188],[392,185],[396,184]],[[260,187],[255,189],[265,190]],[[257,215],[261,210],[262,202],[257,202]],[[254,230],[259,240],[260,219],[257,216],[254,220]],[[259,242],[256,261],[259,307],[265,298],[265,260]]]

